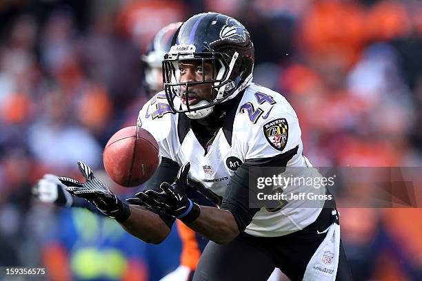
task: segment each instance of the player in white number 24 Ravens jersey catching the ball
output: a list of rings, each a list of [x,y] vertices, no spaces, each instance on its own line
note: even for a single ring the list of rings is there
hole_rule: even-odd
[[[328,202],[250,205],[257,169],[312,167],[296,113],[281,94],[252,82],[253,67],[254,47],[239,21],[194,15],[163,61],[164,92],[139,113],[138,125],[157,139],[161,155],[148,189],[123,202],[82,162],[85,183],[61,183],[145,242],[163,241],[174,220],[209,238],[194,280],[266,280],[275,267],[291,280],[351,280]],[[192,202],[192,189],[219,207]]]

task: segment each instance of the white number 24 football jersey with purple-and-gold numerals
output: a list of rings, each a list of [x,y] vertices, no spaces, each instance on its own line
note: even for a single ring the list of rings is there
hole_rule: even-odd
[[[185,119],[172,113],[160,92],[143,106],[137,125],[154,136],[161,156],[179,165],[190,162],[189,178],[220,198],[230,176],[246,159],[273,157],[298,147],[287,166],[312,167],[302,155],[301,129],[292,106],[281,94],[261,85],[251,83],[246,88],[234,118],[228,125],[223,123],[206,154]],[[313,192],[325,194],[325,188]],[[262,207],[245,232],[275,237],[303,229],[321,212],[321,207],[301,207],[303,204],[303,200],[294,200],[279,211]]]

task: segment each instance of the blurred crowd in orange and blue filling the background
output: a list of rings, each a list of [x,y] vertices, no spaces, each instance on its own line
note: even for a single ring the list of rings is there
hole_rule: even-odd
[[[30,189],[46,172],[79,178],[77,160],[104,174],[108,138],[148,100],[141,54],[164,25],[204,11],[250,31],[254,81],[292,103],[314,165],[422,166],[422,1],[5,0],[0,266],[47,267],[49,280],[157,280],[177,266],[174,233],[147,245]],[[421,218],[341,209],[354,279],[422,280]]]

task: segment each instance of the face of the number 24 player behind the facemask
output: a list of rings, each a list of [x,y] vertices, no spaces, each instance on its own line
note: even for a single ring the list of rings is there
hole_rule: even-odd
[[[201,61],[183,61],[179,62],[179,83],[185,82],[199,82],[204,80],[211,80],[212,77],[212,63],[204,63],[202,66]],[[203,69],[204,68],[204,69]],[[214,71],[214,74],[217,73]],[[186,86],[181,86],[181,101],[186,104],[185,99]],[[203,83],[199,85],[190,85],[188,87],[189,105],[199,103],[201,100],[210,101],[212,99],[211,84]]]

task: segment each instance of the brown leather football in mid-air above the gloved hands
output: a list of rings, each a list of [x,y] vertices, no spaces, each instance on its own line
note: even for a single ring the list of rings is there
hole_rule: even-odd
[[[150,132],[131,126],[119,129],[103,152],[108,176],[123,187],[145,183],[159,165],[159,146]]]

